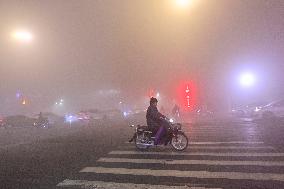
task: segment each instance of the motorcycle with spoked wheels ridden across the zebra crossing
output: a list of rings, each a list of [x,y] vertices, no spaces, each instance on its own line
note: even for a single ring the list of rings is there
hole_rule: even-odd
[[[167,122],[167,134],[160,138],[160,143],[157,145],[171,144],[174,150],[184,151],[188,146],[188,138],[182,131],[180,123],[173,123],[172,119],[164,118]],[[134,125],[131,125],[134,127]],[[155,133],[153,133],[148,126],[137,125],[135,133],[129,142],[134,141],[138,150],[146,150],[151,146],[155,146]]]

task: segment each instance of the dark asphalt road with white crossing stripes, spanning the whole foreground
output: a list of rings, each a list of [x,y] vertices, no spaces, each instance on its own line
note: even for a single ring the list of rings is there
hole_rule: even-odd
[[[284,188],[283,122],[185,124],[182,153],[137,151],[128,124],[0,130],[0,188]]]

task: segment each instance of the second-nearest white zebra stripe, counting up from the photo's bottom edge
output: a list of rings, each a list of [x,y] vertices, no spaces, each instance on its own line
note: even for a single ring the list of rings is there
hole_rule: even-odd
[[[86,167],[81,173],[115,174],[115,175],[136,175],[136,176],[157,176],[157,177],[184,177],[204,179],[237,179],[237,180],[258,180],[258,181],[282,181],[284,174],[272,173],[241,173],[241,172],[208,172],[208,171],[179,171],[179,170],[153,170],[153,169],[127,169],[127,168],[105,168]]]

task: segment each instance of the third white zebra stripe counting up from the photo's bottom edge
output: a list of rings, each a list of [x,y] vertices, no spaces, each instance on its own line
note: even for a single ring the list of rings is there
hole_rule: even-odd
[[[284,166],[284,161],[216,161],[216,160],[161,160],[161,159],[129,159],[100,158],[98,162],[107,163],[157,163],[169,165],[248,165],[248,166]]]

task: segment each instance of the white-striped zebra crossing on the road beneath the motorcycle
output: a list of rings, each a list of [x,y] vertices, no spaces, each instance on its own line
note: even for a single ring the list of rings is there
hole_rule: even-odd
[[[284,153],[251,140],[191,141],[185,152],[170,147],[141,152],[125,143],[57,187],[281,189]]]

